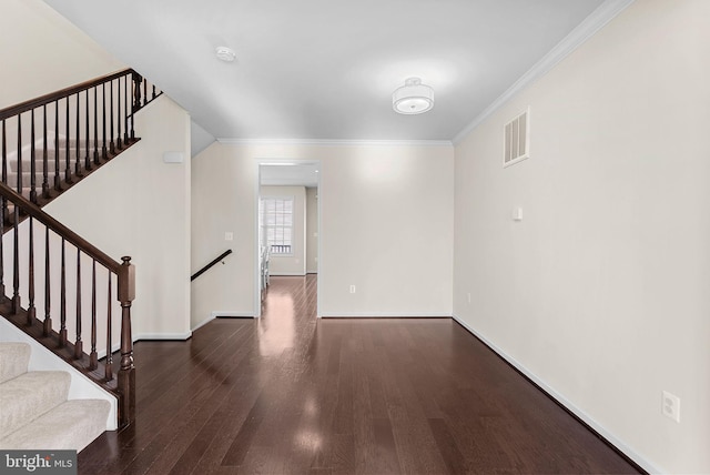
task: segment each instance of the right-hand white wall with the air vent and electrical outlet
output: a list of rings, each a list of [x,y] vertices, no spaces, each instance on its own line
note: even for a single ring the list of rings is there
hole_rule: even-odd
[[[456,316],[668,473],[710,472],[708,18],[635,2],[456,146]],[[528,105],[531,158],[503,169]]]

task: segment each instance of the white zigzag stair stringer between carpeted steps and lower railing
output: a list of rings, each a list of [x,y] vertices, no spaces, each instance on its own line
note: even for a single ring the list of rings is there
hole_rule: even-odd
[[[99,387],[87,376],[77,371],[72,365],[57,357],[41,343],[16,327],[6,319],[0,317],[0,342],[28,343],[32,352],[28,371],[64,371],[71,376],[69,388],[70,400],[105,400],[111,404],[111,411],[106,420],[106,431],[118,428],[118,400],[109,392]]]

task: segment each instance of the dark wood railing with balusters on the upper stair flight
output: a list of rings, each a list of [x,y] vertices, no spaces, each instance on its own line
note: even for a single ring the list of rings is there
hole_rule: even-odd
[[[126,69],[0,110],[2,183],[45,204],[135,143],[135,112],[161,93]]]

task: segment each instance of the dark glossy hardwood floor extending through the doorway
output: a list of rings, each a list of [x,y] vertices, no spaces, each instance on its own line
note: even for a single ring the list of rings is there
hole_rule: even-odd
[[[456,322],[316,321],[315,290],[136,343],[138,421],[79,473],[638,473]]]

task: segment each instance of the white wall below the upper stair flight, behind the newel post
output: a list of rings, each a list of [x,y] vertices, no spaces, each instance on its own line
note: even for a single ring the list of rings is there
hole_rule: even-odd
[[[136,272],[134,338],[190,336],[190,117],[160,97],[136,117],[142,140],[44,211]],[[164,163],[164,152],[183,163]]]

